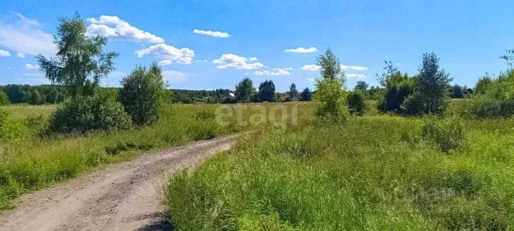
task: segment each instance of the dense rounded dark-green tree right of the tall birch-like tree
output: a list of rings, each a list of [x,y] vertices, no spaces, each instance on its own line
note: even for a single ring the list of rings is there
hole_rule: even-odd
[[[122,80],[120,98],[125,111],[137,125],[154,124],[159,119],[159,105],[164,93],[162,70],[153,63],[150,68],[137,67]]]

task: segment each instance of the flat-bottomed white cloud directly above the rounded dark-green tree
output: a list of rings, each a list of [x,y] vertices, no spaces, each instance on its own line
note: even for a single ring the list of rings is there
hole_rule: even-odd
[[[136,50],[134,53],[138,57],[142,57],[144,55],[152,55],[156,57],[162,57],[164,59],[170,60],[171,62],[179,63],[179,64],[191,64],[194,57],[194,51],[189,48],[176,48],[174,46],[170,46],[167,44],[156,44],[150,46],[148,48],[144,48],[141,50]],[[168,62],[168,61],[166,61]]]

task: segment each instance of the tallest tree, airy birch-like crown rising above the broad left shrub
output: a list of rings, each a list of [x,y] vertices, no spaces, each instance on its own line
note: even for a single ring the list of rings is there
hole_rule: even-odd
[[[77,13],[72,18],[60,19],[53,43],[57,57],[36,56],[40,69],[52,83],[68,87],[72,97],[92,95],[100,79],[114,70],[115,52],[105,52],[107,37],[86,36],[85,21]]]

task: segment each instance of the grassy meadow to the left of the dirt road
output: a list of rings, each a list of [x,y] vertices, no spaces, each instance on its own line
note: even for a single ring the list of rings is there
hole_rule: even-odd
[[[216,109],[221,105],[212,104],[170,104],[161,111],[157,124],[128,131],[38,138],[28,126],[25,133],[22,132],[26,136],[0,143],[0,211],[11,208],[11,200],[27,191],[75,178],[82,172],[107,164],[130,160],[141,151],[255,129],[260,125],[250,122],[254,119],[250,115],[260,109],[269,110],[271,105],[251,104],[246,110],[236,109],[237,105],[224,106],[233,114],[223,119],[226,126],[216,122]],[[291,108],[297,104],[287,105]],[[24,105],[3,109],[11,112],[9,120],[12,127],[22,127],[29,116],[43,114],[42,120],[47,120],[55,107]],[[279,119],[277,121],[280,122]]]

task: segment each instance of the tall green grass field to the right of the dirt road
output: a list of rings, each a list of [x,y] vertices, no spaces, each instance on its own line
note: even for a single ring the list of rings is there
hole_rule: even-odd
[[[323,126],[310,105],[303,110],[297,126],[261,127],[171,177],[167,217],[176,229],[514,227],[514,120],[459,119],[465,141],[447,153],[421,137],[428,118],[374,112]]]

